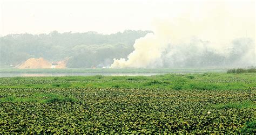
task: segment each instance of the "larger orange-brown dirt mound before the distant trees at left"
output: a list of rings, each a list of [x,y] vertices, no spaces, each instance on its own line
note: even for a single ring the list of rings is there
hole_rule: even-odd
[[[43,58],[30,58],[18,66],[18,68],[51,68],[51,63],[44,60]]]

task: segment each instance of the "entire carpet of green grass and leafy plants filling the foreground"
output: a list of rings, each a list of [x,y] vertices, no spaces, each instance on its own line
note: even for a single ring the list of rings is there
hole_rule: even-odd
[[[0,77],[0,133],[255,133],[255,73]]]

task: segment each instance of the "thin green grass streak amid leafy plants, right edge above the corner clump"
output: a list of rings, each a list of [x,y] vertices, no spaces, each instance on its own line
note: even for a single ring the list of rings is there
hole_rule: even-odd
[[[213,105],[212,108],[214,108],[214,109],[227,109],[227,108],[242,109],[242,108],[256,108],[256,105],[252,101],[244,101],[244,102],[236,102],[236,103],[216,104],[216,105]]]

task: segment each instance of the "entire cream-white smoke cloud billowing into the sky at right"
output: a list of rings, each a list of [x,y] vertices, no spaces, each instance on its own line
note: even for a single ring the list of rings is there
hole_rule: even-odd
[[[137,39],[127,59],[114,59],[110,68],[255,66],[255,12],[249,5],[201,6],[159,19],[154,33]]]

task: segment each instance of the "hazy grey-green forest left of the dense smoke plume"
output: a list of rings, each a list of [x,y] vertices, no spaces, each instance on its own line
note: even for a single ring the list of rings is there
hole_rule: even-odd
[[[127,58],[134,41],[152,31],[9,34],[0,37],[0,67],[15,67],[29,58],[50,62],[69,58],[68,68],[110,66],[113,58]]]

